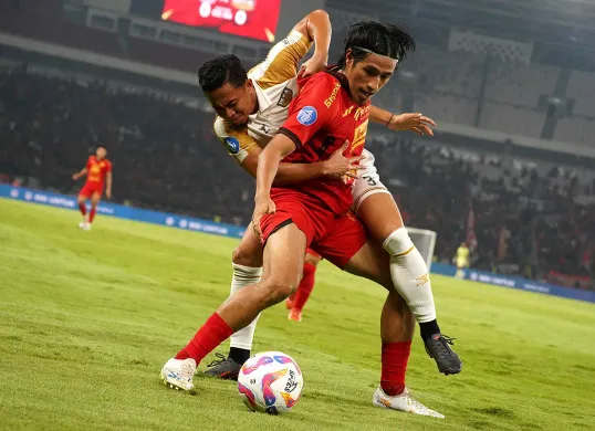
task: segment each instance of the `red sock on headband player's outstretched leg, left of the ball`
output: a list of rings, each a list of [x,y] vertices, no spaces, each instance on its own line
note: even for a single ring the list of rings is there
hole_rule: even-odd
[[[233,334],[233,329],[217,313],[213,313],[198,329],[190,343],[178,351],[176,359],[192,358],[198,365],[205,356],[231,337],[231,334]]]

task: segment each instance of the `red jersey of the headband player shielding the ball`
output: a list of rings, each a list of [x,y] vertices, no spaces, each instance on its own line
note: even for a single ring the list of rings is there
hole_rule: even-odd
[[[357,105],[351,98],[347,77],[332,70],[300,80],[298,85],[300,93],[290,105],[288,120],[279,128],[279,133],[292,139],[298,149],[283,161],[313,164],[327,160],[345,140],[351,143],[346,157],[362,155],[370,102]],[[352,183],[352,178],[321,177],[273,187],[272,191],[285,188],[300,190],[316,197],[334,213],[343,214],[353,203]]]

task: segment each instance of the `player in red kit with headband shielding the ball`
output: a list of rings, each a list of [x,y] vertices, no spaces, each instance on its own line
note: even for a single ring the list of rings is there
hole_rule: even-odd
[[[355,25],[346,39],[343,67],[300,83],[289,119],[259,157],[253,225],[263,241],[262,278],[233,293],[190,343],[166,362],[161,378],[167,386],[191,390],[196,367],[210,351],[295,290],[305,250],[312,246],[336,266],[388,290],[380,325],[382,378],[374,404],[443,418],[414,400],[405,387],[414,316],[393,285],[388,254],[377,242],[367,240],[364,228],[349,212],[353,178],[347,177],[355,176],[272,187],[281,159],[317,162],[331,157],[345,140],[351,143],[349,156],[362,154],[370,97],[414,46],[410,35],[401,29],[364,22]],[[456,359],[460,366],[458,356]]]

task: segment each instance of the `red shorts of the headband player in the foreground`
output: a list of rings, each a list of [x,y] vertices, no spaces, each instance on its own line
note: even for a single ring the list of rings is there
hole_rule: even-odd
[[[294,223],[306,236],[306,248],[343,269],[367,241],[366,231],[352,213],[336,216],[305,193],[274,190],[271,198],[276,206],[274,214],[260,220],[264,243],[279,229]]]

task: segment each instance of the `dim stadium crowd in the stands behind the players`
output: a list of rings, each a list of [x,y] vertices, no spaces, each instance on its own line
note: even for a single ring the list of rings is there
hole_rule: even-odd
[[[213,136],[212,114],[152,93],[22,71],[0,74],[0,101],[2,182],[75,193],[81,185],[72,174],[101,144],[114,162],[114,200],[234,224],[250,220],[253,181]],[[468,238],[472,211],[472,266],[532,278],[552,271],[593,276],[595,207],[577,197],[593,197],[595,181],[580,183],[555,168],[511,172],[407,134],[367,147],[407,225],[438,232],[439,261],[450,262]],[[490,170],[499,175],[484,175]]]

